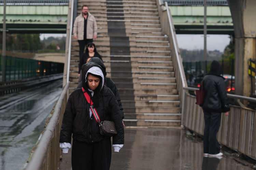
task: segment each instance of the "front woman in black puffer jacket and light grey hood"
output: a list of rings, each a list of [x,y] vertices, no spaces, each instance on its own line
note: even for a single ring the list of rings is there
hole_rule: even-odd
[[[117,135],[113,137],[113,147],[115,152],[119,152],[124,145],[120,109],[112,91],[104,85],[103,70],[98,64],[82,66],[82,86],[93,101],[100,120],[114,122]],[[63,153],[68,153],[73,135],[73,170],[109,170],[111,137],[100,134],[99,123],[89,109],[83,89],[76,89],[68,99],[60,131],[60,148]]]

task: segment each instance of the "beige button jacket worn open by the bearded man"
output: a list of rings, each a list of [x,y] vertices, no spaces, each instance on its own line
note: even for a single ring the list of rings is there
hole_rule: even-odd
[[[93,36],[94,35],[97,36],[97,33],[98,33],[98,28],[97,28],[96,19],[94,18],[93,15],[88,13],[86,37],[87,39],[93,39]],[[84,16],[82,13],[75,18],[73,34],[74,36],[77,36],[78,40],[84,39]]]

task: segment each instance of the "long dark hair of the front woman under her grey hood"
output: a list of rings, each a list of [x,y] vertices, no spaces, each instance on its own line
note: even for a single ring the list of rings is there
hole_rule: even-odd
[[[101,95],[102,78],[101,78],[100,75],[96,75],[96,74],[93,74],[93,73],[88,73],[88,75],[87,75],[87,77],[86,77],[86,86],[87,86],[88,89],[89,89],[89,85],[88,85],[88,80],[87,80],[87,78],[88,78],[89,75],[92,75],[92,76],[97,77],[97,78],[100,79],[100,83],[99,83],[98,87],[94,90],[94,95],[93,95],[93,97],[91,98],[91,100],[93,101],[94,107],[98,107],[98,106],[99,106],[99,102],[100,102],[99,99],[100,99],[101,96],[102,96],[102,95]],[[90,94],[90,92],[89,92],[89,94]]]

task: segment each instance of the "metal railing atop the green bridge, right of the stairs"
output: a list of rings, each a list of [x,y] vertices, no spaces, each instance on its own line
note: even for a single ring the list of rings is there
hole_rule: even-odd
[[[171,6],[203,6],[203,0],[164,0]],[[225,0],[207,0],[207,6],[228,6]]]

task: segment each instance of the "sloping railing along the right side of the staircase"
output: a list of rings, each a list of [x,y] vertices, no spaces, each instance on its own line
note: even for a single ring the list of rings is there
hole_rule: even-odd
[[[162,34],[167,35],[169,40],[172,63],[173,63],[174,73],[175,73],[175,78],[177,83],[177,90],[180,95],[180,99],[184,99],[183,88],[187,87],[187,81],[184,73],[179,46],[176,39],[176,33],[175,33],[174,24],[171,16],[171,11],[168,7],[167,2],[165,2],[165,4],[161,4],[161,0],[156,0],[156,3],[158,6],[158,13],[160,17]],[[182,106],[182,110],[184,109],[183,103],[184,101],[181,100],[180,104]]]

